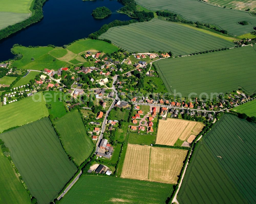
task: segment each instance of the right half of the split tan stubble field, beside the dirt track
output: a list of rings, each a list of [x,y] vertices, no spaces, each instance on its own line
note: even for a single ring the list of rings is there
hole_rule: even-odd
[[[187,150],[151,147],[149,180],[175,184]]]

